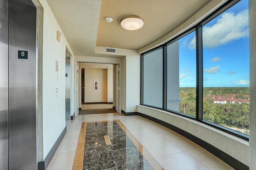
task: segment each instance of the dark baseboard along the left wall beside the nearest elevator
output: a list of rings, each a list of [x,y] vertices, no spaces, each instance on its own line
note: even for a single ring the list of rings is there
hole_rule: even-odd
[[[52,157],[54,156],[56,150],[58,149],[60,142],[62,141],[66,132],[67,132],[67,127],[65,127],[63,129],[63,131],[61,132],[60,136],[58,137],[58,139],[52,146],[52,149],[50,150],[50,152],[48,153],[48,155],[46,156],[44,161],[38,162],[38,170],[46,170],[47,166],[49,165],[50,161],[52,160]]]

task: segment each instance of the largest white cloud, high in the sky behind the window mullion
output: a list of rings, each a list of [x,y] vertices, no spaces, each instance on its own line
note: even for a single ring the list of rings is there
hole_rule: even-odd
[[[203,28],[203,45],[206,48],[218,47],[219,45],[249,36],[248,9],[234,14],[225,12],[212,26]],[[188,44],[190,49],[196,48],[196,37]]]

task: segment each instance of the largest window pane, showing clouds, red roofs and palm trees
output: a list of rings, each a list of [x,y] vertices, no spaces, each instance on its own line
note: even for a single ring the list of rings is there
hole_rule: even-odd
[[[203,119],[249,134],[249,15],[241,0],[202,26]]]

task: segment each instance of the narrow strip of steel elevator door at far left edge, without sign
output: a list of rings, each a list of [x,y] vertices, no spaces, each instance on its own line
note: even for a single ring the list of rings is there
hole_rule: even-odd
[[[8,2],[0,0],[0,170],[8,170]]]

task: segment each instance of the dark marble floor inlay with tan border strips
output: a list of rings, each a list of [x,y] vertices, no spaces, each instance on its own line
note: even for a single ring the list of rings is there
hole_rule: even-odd
[[[82,130],[83,170],[153,170],[119,120],[83,123]]]

